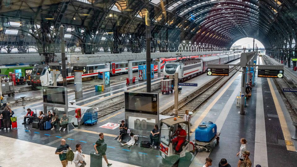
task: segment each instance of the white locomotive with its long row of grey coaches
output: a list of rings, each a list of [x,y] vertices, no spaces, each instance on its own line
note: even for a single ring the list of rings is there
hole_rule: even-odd
[[[164,79],[171,79],[170,75],[179,74],[179,82],[186,81],[207,71],[208,64],[226,64],[240,58],[240,53],[221,54],[218,56],[186,58],[178,62],[168,62],[164,65]]]

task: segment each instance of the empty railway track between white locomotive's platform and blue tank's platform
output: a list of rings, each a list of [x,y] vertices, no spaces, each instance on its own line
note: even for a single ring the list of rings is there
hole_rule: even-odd
[[[202,90],[195,95],[192,99],[190,99],[189,101],[187,101],[186,103],[184,103],[183,105],[181,105],[179,107],[179,112],[178,115],[183,118],[183,116],[185,115],[185,111],[189,110],[189,112],[193,112],[195,113],[195,111],[205,102],[207,102],[210,97],[212,97],[220,88],[222,88],[222,86],[224,86],[225,83],[228,82],[228,80],[236,74],[237,71],[231,70],[229,72],[229,76],[225,76],[225,77],[217,77],[217,81],[215,81],[214,83],[212,83],[211,85],[206,85],[202,88]],[[231,74],[231,75],[230,75]],[[171,110],[170,112],[168,112],[166,115],[170,115],[173,116],[173,110]]]

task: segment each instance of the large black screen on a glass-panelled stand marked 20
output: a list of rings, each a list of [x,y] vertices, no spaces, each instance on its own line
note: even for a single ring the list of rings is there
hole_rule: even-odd
[[[138,135],[149,135],[159,124],[159,94],[125,92],[125,122]]]

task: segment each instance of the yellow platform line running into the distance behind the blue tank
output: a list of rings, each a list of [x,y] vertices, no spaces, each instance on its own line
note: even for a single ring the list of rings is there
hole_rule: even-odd
[[[201,113],[200,117],[194,122],[193,127],[198,127],[200,122],[202,122],[202,120],[205,118],[205,116],[209,113],[210,109],[213,108],[213,105],[215,105],[217,103],[217,101],[221,98],[221,96],[226,92],[226,90],[228,90],[228,88],[234,82],[234,80],[237,78],[238,75],[239,75],[239,73],[235,74],[234,78],[231,81],[229,81],[229,83],[222,90],[222,92],[210,103],[210,105],[203,111],[203,113]],[[191,135],[193,135],[193,134],[194,133],[191,133]]]

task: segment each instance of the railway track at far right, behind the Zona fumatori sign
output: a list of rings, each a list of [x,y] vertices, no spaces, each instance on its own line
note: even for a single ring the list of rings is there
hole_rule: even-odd
[[[271,62],[266,56],[262,56],[264,59],[264,62],[267,64],[269,63],[270,65],[274,65],[273,62]],[[283,88],[292,88],[291,84],[289,84],[284,78],[283,79],[274,79],[273,82],[277,83],[281,91],[280,93],[283,93],[283,95],[286,97],[287,101],[291,105],[292,109],[294,110],[295,114],[297,114],[297,93],[295,92],[283,92]]]

